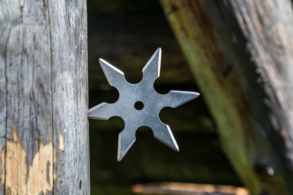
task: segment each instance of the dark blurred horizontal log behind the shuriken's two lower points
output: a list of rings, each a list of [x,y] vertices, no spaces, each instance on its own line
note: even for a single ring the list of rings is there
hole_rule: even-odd
[[[117,162],[113,154],[117,154],[121,130],[96,129],[92,121],[89,120],[92,186],[164,181],[241,185],[216,135],[173,132],[180,148],[180,152],[174,152],[154,138],[149,128],[140,128],[133,147]]]

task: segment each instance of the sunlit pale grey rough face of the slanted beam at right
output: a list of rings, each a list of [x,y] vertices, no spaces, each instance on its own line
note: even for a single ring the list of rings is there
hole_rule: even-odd
[[[233,11],[268,97],[271,123],[286,144],[293,170],[293,5],[291,0],[236,0]]]

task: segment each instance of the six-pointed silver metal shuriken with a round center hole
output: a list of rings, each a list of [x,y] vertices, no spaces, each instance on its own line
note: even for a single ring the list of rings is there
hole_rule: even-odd
[[[113,104],[101,103],[88,110],[88,118],[107,120],[118,116],[124,120],[124,130],[118,139],[118,161],[128,152],[136,140],[135,132],[141,126],[150,127],[154,137],[175,151],[179,147],[167,124],[164,124],[159,113],[164,107],[176,108],[199,96],[196,92],[170,91],[166,95],[158,94],[154,81],[160,76],[161,48],[153,54],[143,68],[143,79],[137,84],[126,81],[124,73],[104,59],[99,59],[109,84],[119,92],[118,100]],[[144,108],[136,110],[134,104],[143,102]]]

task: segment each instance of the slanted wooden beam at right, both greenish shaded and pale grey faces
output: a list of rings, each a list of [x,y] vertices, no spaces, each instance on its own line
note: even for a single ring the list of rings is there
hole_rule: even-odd
[[[244,185],[292,194],[291,1],[161,2]]]

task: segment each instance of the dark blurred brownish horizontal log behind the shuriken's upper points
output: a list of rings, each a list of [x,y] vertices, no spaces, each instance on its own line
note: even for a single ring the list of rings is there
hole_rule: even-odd
[[[89,15],[88,26],[89,91],[109,86],[99,58],[122,70],[127,81],[138,83],[143,67],[159,47],[162,66],[156,84],[194,82],[164,14]]]

